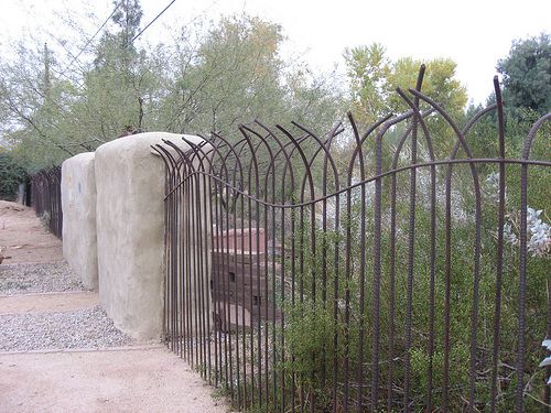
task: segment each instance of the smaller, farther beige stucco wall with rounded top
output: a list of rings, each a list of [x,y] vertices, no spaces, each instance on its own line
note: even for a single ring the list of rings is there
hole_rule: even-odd
[[[94,157],[80,153],[62,165],[63,256],[89,290],[98,287]]]

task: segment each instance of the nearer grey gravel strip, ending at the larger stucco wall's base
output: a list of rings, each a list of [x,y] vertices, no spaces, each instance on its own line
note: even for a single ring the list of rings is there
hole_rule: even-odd
[[[94,308],[0,316],[0,351],[107,348],[127,345],[105,312]]]

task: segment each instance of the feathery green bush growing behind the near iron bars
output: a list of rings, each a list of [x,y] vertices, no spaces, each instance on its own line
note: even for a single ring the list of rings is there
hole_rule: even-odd
[[[518,193],[519,185],[511,167],[511,180],[508,183],[507,210],[512,211],[519,208]],[[408,175],[403,176],[404,178]],[[483,176],[484,178],[484,176]],[[534,184],[540,182],[541,176],[534,170],[532,178]],[[468,187],[467,177],[454,177],[454,185]],[[545,205],[544,192],[538,192],[538,185],[532,188],[530,202],[538,205]],[[407,187],[407,186],[404,186]],[[540,186],[541,189],[541,186]],[[472,317],[474,312],[474,243],[475,243],[475,221],[473,194],[462,191],[462,208],[464,215],[457,214],[452,222],[451,239],[451,284],[450,284],[450,407],[452,411],[462,411],[469,398],[469,365],[471,365],[471,339],[472,339]],[[389,199],[383,199],[383,205],[388,207]],[[359,244],[357,237],[359,214],[363,211],[355,205],[352,208],[350,219],[343,222],[338,231],[322,231],[317,226],[312,237],[310,222],[306,222],[302,230],[298,230],[293,238],[296,249],[301,251],[303,258],[303,269],[295,273],[295,285],[303,285],[302,301],[295,296],[295,303],[288,301],[282,304],[285,313],[285,326],[279,334],[283,335],[285,343],[285,354],[288,360],[281,362],[279,368],[288,377],[295,374],[298,387],[302,387],[306,394],[313,395],[316,400],[316,411],[331,411],[333,402],[343,404],[339,394],[343,394],[343,385],[346,381],[350,383],[350,403],[357,402],[357,389],[359,382],[357,377],[363,371],[364,398],[369,398],[370,382],[372,376],[371,351],[374,345],[374,316],[372,316],[372,222],[370,222],[371,208],[366,208],[367,237],[365,246]],[[425,205],[418,199],[415,210],[415,240],[413,261],[413,290],[412,290],[412,337],[410,356],[410,398],[413,401],[414,411],[421,411],[424,406],[428,394],[429,366],[432,366],[432,403],[433,406],[442,405],[443,378],[444,378],[444,325],[445,325],[445,232],[444,211],[442,205],[437,206],[436,217],[436,260],[434,291],[434,345],[431,355],[429,348],[430,332],[430,214]],[[380,276],[380,319],[379,319],[379,385],[380,405],[383,402],[387,391],[390,354],[388,343],[390,338],[391,323],[395,329],[395,348],[392,352],[392,387],[395,400],[400,400],[403,391],[404,380],[404,319],[407,317],[407,281],[408,281],[408,225],[409,225],[409,203],[403,196],[397,203],[397,244],[396,244],[396,272],[395,272],[395,294],[390,293],[390,232],[389,226],[382,228],[381,235],[381,276]],[[388,220],[388,209],[383,207],[383,221]],[[352,244],[349,252],[350,272],[346,273],[344,265],[346,252],[347,226],[350,227]],[[495,296],[496,296],[496,257],[497,242],[495,239],[497,228],[497,208],[491,196],[483,194],[483,215],[480,220],[480,271],[478,285],[478,307],[477,307],[477,335],[476,335],[476,396],[477,407],[488,409],[490,403],[490,369],[493,363],[491,349],[494,346],[494,324],[495,324]],[[312,242],[315,239],[315,243]],[[501,316],[500,316],[500,350],[498,371],[498,411],[508,412],[512,409],[515,400],[515,368],[516,348],[518,343],[518,300],[519,300],[519,258],[516,246],[506,244],[504,256],[503,290],[501,290]],[[339,250],[341,262],[335,268],[333,252]],[[366,250],[365,271],[359,272],[361,248]],[[325,273],[322,265],[322,251],[326,249],[327,259]],[[289,263],[288,263],[289,264]],[[529,257],[527,262],[527,294],[526,294],[526,380],[531,378],[529,392],[532,398],[526,399],[527,409],[536,409],[542,390],[543,371],[538,369],[538,361],[541,358],[540,343],[545,332],[545,282],[550,271],[550,261],[547,257]],[[288,268],[288,273],[290,272]],[[338,289],[334,290],[335,278],[338,276]],[[364,280],[364,311],[360,309],[360,283]],[[314,294],[315,291],[315,294]],[[322,294],[326,298],[322,300]],[[346,303],[345,297],[349,296],[349,322],[345,322]],[[393,298],[393,318],[390,316],[390,300]],[[337,312],[334,313],[334,303],[337,303]],[[337,337],[336,346],[334,337]],[[361,337],[361,339],[360,339]],[[363,358],[360,365],[360,349],[363,346]],[[349,376],[344,376],[345,362],[348,365]],[[334,366],[337,366],[336,382],[334,381]],[[333,387],[336,385],[337,400],[332,401]],[[289,399],[289,396],[287,398]],[[363,402],[366,406],[367,401]],[[528,410],[527,410],[528,411]]]

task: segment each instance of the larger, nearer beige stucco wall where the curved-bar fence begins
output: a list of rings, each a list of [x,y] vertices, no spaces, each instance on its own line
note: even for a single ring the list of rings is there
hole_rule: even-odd
[[[140,133],[96,151],[100,304],[118,328],[137,339],[159,338],[163,319],[165,172],[151,145],[165,139],[187,150],[181,137]]]

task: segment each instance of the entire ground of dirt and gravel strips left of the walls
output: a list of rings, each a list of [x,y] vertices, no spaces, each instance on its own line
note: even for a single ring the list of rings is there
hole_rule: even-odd
[[[34,213],[0,202],[0,413],[228,411],[158,343],[117,330]]]

